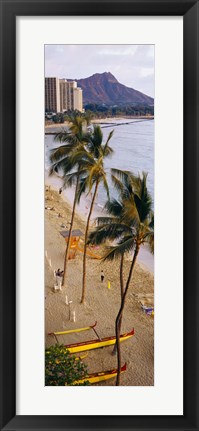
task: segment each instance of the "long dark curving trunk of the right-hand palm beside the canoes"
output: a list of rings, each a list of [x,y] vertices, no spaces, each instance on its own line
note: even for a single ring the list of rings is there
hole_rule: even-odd
[[[123,313],[123,309],[124,309],[124,304],[125,304],[125,299],[126,299],[126,295],[127,295],[127,292],[128,292],[129,284],[130,284],[130,281],[131,281],[131,276],[132,276],[132,273],[133,273],[133,268],[135,266],[137,255],[139,253],[139,249],[140,249],[140,245],[137,244],[136,245],[136,249],[135,249],[135,253],[134,253],[134,256],[133,256],[133,260],[132,260],[132,263],[131,263],[131,267],[130,267],[128,279],[127,279],[127,282],[126,282],[125,291],[124,291],[124,294],[122,296],[121,306],[120,306],[120,309],[119,309],[119,312],[118,312],[118,315],[117,315],[116,321],[115,321],[116,346],[117,346],[117,379],[116,379],[116,386],[119,386],[119,384],[120,384],[120,374],[121,374],[121,350],[120,350],[120,325],[121,325],[121,317],[122,317],[122,313]]]

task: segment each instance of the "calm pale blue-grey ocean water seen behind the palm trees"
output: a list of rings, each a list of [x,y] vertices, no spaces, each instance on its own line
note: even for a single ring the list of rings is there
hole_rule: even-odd
[[[113,148],[114,153],[111,157],[105,160],[104,166],[107,170],[108,179],[110,179],[110,168],[118,168],[130,170],[134,174],[147,172],[147,186],[151,194],[154,204],[154,120],[110,120],[110,123],[101,123],[103,130],[104,142],[108,137],[111,130],[114,129],[114,134],[109,142]],[[128,124],[122,124],[127,123]],[[45,178],[46,182],[54,186],[60,187],[61,180],[58,177],[48,177],[49,150],[57,147],[54,142],[53,135],[45,135]],[[111,181],[109,181],[110,195],[117,196]],[[66,190],[64,192],[72,202],[72,192]],[[104,204],[107,200],[106,193],[102,187],[99,187],[96,204],[93,212],[93,217],[101,214]],[[88,213],[90,197],[84,197],[80,203],[79,211],[86,217]],[[153,256],[146,248],[140,253],[141,263],[145,264],[151,271],[153,271]]]

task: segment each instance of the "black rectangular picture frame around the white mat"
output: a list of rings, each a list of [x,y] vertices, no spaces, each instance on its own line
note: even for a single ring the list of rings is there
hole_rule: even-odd
[[[199,1],[0,0],[2,430],[199,430]],[[184,414],[182,416],[16,416],[16,17],[183,16],[184,21]],[[177,191],[176,191],[177,192]],[[174,210],[175,212],[175,210]],[[176,214],[177,222],[177,214]],[[175,238],[172,239],[175,246]],[[9,276],[8,276],[9,275]],[[172,390],[172,387],[171,387]],[[30,400],[31,402],[31,400]]]

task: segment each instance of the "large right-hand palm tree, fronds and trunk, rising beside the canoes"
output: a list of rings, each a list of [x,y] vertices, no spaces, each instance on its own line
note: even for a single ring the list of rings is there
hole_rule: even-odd
[[[124,310],[125,300],[132,278],[135,262],[144,243],[150,245],[153,252],[154,246],[154,215],[151,209],[152,200],[146,186],[147,174],[143,173],[142,177],[134,176],[127,171],[112,170],[113,181],[115,187],[120,193],[120,202],[112,201],[108,203],[107,208],[113,214],[117,211],[119,217],[115,217],[112,221],[101,220],[102,225],[90,235],[89,241],[100,243],[107,239],[117,240],[117,244],[109,247],[104,259],[113,260],[115,258],[124,258],[125,253],[133,251],[133,259],[131,262],[128,278],[121,296],[121,305],[115,321],[116,330],[116,347],[118,373],[116,385],[120,383],[120,368],[121,368],[121,351],[120,351],[120,328],[121,319]],[[113,210],[113,207],[115,208]],[[104,224],[103,224],[104,223]],[[120,269],[121,273],[121,269]],[[121,279],[121,276],[120,276]]]

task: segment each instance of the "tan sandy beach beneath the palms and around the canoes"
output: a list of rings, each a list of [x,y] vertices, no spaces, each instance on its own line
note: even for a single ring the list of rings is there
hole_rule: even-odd
[[[66,329],[89,326],[97,321],[97,332],[100,337],[115,334],[115,318],[120,306],[119,260],[111,263],[88,257],[86,303],[80,304],[82,286],[83,254],[78,252],[75,259],[68,263],[67,287],[54,292],[54,270],[63,269],[66,243],[60,231],[70,226],[71,207],[65,196],[58,191],[46,187],[45,193],[45,339],[46,347],[55,344],[53,336],[48,333]],[[85,231],[85,221],[76,215],[74,229]],[[83,240],[83,237],[82,237]],[[83,243],[82,243],[83,244]],[[97,249],[102,254],[101,249]],[[51,266],[50,266],[51,264]],[[130,261],[124,265],[126,280]],[[100,272],[104,271],[105,279],[101,283]],[[110,282],[110,289],[108,289]],[[127,363],[127,370],[121,376],[124,386],[152,386],[154,384],[154,319],[147,316],[141,309],[141,302],[154,304],[154,277],[139,264],[129,287],[124,309],[122,333],[133,328],[135,335],[121,343],[122,363]],[[72,301],[71,315],[75,311],[76,321],[69,320],[69,306],[66,295]],[[63,344],[96,339],[92,330],[59,336]],[[88,351],[83,361],[88,365],[89,372],[105,371],[116,367],[116,356],[112,356],[112,347]],[[98,385],[115,385],[115,378]]]

